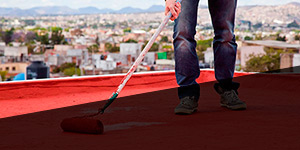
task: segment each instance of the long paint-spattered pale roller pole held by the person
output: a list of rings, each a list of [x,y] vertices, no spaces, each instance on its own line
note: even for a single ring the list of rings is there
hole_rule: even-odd
[[[181,2],[181,1],[182,0],[177,0],[177,2]],[[146,47],[143,49],[143,51],[141,52],[141,54],[139,55],[139,57],[136,59],[136,61],[134,62],[134,64],[131,66],[131,68],[129,69],[129,71],[126,73],[125,77],[121,81],[121,83],[118,86],[117,90],[112,94],[112,96],[110,97],[110,99],[108,100],[108,102],[104,105],[104,107],[99,110],[101,112],[101,114],[103,114],[104,110],[118,97],[119,93],[125,87],[126,83],[129,81],[129,79],[131,78],[132,74],[134,73],[134,71],[136,70],[136,68],[138,67],[138,65],[142,62],[142,60],[144,59],[145,55],[148,53],[148,51],[150,50],[151,46],[155,42],[156,38],[159,36],[159,34],[164,29],[164,27],[166,26],[166,24],[169,22],[169,20],[170,20],[171,17],[172,17],[172,13],[169,12],[169,14],[165,17],[165,19],[163,20],[163,22],[159,25],[158,29],[156,30],[156,32],[154,33],[154,35],[151,37],[151,39],[149,40],[149,42],[147,43]]]

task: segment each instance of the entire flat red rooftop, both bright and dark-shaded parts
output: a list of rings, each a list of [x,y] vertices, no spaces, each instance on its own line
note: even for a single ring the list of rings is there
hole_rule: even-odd
[[[199,110],[174,115],[174,72],[138,73],[100,116],[103,135],[65,133],[67,117],[94,113],[124,75],[0,83],[0,149],[300,149],[300,75],[236,73],[245,111],[219,106],[202,70]]]

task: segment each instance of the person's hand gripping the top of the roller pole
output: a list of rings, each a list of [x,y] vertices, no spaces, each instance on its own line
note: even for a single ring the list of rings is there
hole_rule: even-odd
[[[170,19],[172,21],[174,21],[181,12],[181,4],[179,2],[176,2],[176,0],[167,0],[166,1],[165,15],[168,15],[168,13],[170,11],[172,13],[172,17]]]

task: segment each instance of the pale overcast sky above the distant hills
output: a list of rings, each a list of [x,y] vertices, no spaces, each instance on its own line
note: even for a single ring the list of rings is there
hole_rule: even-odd
[[[300,0],[238,0],[238,5],[278,5]],[[202,5],[207,5],[207,0],[202,0]],[[0,7],[19,7],[22,9],[36,6],[68,6],[80,8],[94,6],[97,8],[120,9],[131,6],[149,8],[151,5],[164,5],[164,0],[0,0]]]

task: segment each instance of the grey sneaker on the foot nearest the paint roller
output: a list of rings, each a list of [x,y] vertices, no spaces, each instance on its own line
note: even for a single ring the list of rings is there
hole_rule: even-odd
[[[180,99],[180,103],[175,108],[175,114],[190,115],[198,110],[198,100],[194,96],[187,96]]]

